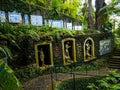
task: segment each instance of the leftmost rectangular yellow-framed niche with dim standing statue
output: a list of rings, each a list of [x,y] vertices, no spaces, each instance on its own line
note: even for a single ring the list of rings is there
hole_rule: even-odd
[[[40,42],[35,44],[35,58],[37,67],[53,65],[52,43]]]

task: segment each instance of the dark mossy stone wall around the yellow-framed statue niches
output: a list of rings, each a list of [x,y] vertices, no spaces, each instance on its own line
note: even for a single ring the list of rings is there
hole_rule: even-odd
[[[19,53],[20,57],[18,57],[18,60],[20,58],[22,60],[22,64],[25,63],[25,65],[35,64],[36,63],[35,48],[34,48],[35,44],[49,41],[52,43],[53,65],[63,65],[62,40],[66,39],[66,38],[73,38],[73,39],[75,39],[76,61],[77,61],[76,64],[81,65],[81,64],[85,63],[84,62],[84,48],[83,47],[84,47],[84,42],[88,37],[91,37],[94,41],[94,49],[95,49],[95,57],[96,57],[95,60],[97,58],[101,58],[102,56],[104,56],[104,55],[101,56],[99,53],[99,49],[100,49],[99,42],[101,40],[107,40],[107,39],[111,40],[111,52],[112,52],[112,50],[114,48],[114,40],[113,40],[114,36],[112,33],[85,34],[85,35],[74,35],[74,36],[66,35],[66,36],[61,36],[60,38],[44,37],[38,41],[27,38],[27,40],[28,40],[27,42],[24,42],[24,40],[20,42],[20,43],[24,42],[24,44],[23,44],[23,46],[21,46],[21,48],[23,48],[23,50],[20,50],[21,52]],[[29,44],[26,44],[28,42],[29,42]],[[27,48],[26,48],[26,45],[27,45]],[[91,60],[91,61],[94,61],[94,60]],[[18,64],[16,63],[16,65],[18,65]]]

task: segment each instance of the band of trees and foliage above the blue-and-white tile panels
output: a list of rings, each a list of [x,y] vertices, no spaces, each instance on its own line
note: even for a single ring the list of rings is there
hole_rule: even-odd
[[[83,28],[102,31],[102,25],[111,23],[109,15],[113,13],[119,15],[120,9],[117,6],[119,0],[112,0],[109,5],[106,5],[104,0],[95,1],[93,7],[92,0],[84,2],[80,0],[2,0],[0,10],[17,11],[23,14],[32,14],[38,10],[47,19],[61,19],[67,15],[83,24]]]

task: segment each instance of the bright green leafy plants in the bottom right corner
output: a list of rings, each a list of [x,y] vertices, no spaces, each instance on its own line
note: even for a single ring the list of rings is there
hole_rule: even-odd
[[[119,90],[119,78],[120,74],[117,73],[117,70],[111,70],[105,78],[96,81],[98,85],[96,85],[95,83],[91,83],[88,85],[88,88],[90,90]]]

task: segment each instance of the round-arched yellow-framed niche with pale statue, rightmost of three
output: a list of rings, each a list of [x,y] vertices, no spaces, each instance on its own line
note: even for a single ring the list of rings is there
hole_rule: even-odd
[[[84,61],[90,61],[95,58],[94,41],[88,37],[84,42]]]

